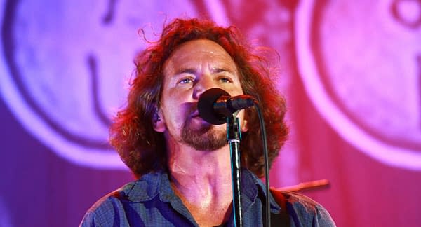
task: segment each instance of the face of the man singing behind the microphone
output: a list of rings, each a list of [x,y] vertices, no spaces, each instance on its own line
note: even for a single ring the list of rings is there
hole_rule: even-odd
[[[226,126],[210,125],[197,111],[200,95],[221,88],[242,95],[236,64],[213,41],[200,39],[180,45],[163,66],[163,90],[155,130],[164,132],[168,144],[178,143],[197,150],[213,151],[227,144]],[[243,131],[243,111],[239,114]]]

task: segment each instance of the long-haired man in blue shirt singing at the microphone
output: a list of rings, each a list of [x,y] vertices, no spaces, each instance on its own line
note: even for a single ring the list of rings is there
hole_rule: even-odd
[[[258,99],[267,123],[270,163],[286,140],[285,102],[262,57],[234,27],[174,20],[135,60],[128,104],[114,119],[110,140],[137,181],[88,210],[81,226],[232,226],[232,179],[226,126],[203,121],[197,102],[221,88]],[[260,128],[254,109],[238,114],[243,223],[265,223]],[[334,226],[321,205],[293,193],[271,198],[274,220],[290,226]],[[271,196],[272,197],[272,196]]]

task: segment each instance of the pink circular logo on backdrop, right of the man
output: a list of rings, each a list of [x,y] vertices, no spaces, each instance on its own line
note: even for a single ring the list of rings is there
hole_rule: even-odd
[[[298,69],[347,142],[421,170],[421,1],[300,1]]]

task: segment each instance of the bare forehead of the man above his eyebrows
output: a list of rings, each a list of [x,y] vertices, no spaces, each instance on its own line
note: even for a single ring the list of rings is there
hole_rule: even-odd
[[[170,65],[175,67],[203,60],[227,64],[225,67],[231,66],[236,68],[234,60],[232,60],[232,57],[222,46],[208,39],[198,39],[187,41],[178,46],[170,57],[168,57],[168,60],[166,60],[164,69]]]

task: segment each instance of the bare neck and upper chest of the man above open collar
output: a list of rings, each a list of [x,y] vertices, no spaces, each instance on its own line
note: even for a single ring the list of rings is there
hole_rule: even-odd
[[[230,214],[229,160],[229,146],[216,151],[196,151],[185,146],[168,152],[171,186],[198,223],[207,223],[207,218],[220,224]]]

